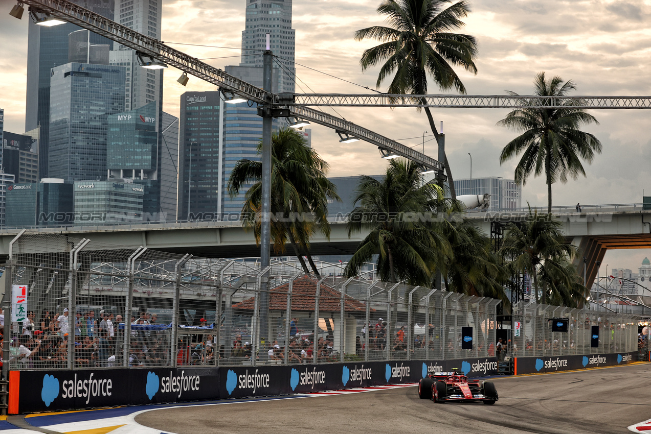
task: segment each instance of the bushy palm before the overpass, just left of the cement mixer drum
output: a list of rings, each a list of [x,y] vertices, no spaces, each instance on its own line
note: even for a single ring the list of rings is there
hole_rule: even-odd
[[[443,196],[437,185],[421,185],[419,166],[393,159],[381,179],[362,176],[348,220],[348,235],[363,228],[370,233],[357,246],[344,275],[353,277],[363,264],[378,255],[380,279],[409,285],[432,286],[436,256],[449,248],[432,230],[436,203]]]

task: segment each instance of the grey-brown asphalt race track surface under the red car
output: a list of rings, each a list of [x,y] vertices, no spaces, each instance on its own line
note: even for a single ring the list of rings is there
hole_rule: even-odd
[[[161,409],[145,426],[197,433],[608,434],[651,418],[651,364],[492,379],[495,405],[420,400],[416,387]]]

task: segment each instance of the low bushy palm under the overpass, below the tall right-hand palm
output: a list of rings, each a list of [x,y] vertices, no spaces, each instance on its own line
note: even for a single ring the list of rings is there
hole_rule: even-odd
[[[538,214],[531,209],[527,221],[520,227],[510,223],[500,249],[514,270],[533,278],[536,302],[542,301],[543,304],[547,303],[550,291],[551,301],[567,301],[575,297],[577,288],[572,281],[578,281],[579,276],[577,270],[567,264],[576,251],[575,246],[565,241],[560,222],[551,214]],[[538,298],[539,292],[542,298]]]

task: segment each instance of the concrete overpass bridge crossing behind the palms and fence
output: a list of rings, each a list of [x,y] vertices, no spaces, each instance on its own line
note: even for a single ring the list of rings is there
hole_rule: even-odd
[[[537,210],[546,212],[547,208]],[[577,212],[574,206],[554,207],[552,212],[561,221],[568,242],[579,248],[575,266],[579,269],[579,274],[585,271],[588,286],[592,285],[597,275],[596,261],[602,261],[608,249],[651,248],[651,210],[644,210],[642,204],[586,205],[581,212]],[[514,209],[469,212],[466,215],[486,235],[499,238],[501,229],[496,227],[501,226],[503,229],[505,223],[523,221],[528,214],[529,209]],[[21,229],[0,230],[0,258],[8,256],[10,242]],[[169,253],[189,253],[195,257],[257,257],[260,252],[253,231],[245,231],[239,221],[40,227],[27,229],[27,234],[58,234],[74,239],[87,238],[115,248],[143,246]],[[333,217],[330,239],[316,233],[311,241],[311,253],[352,255],[366,235],[362,232],[349,237],[344,216]],[[288,251],[287,254],[292,255],[292,252]]]

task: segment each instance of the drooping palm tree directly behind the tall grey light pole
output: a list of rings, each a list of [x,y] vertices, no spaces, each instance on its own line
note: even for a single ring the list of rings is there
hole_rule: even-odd
[[[262,141],[258,153],[262,151]],[[308,272],[303,255],[318,275],[309,254],[309,240],[316,227],[330,235],[327,222],[327,200],[341,201],[337,188],[326,177],[329,166],[307,145],[302,134],[282,128],[271,137],[271,239],[275,253],[284,253],[289,241],[303,271]],[[255,229],[260,242],[260,210],[262,207],[262,163],[239,160],[229,178],[229,194],[237,196],[243,186],[251,184],[242,206],[243,222]]]

